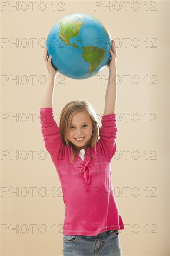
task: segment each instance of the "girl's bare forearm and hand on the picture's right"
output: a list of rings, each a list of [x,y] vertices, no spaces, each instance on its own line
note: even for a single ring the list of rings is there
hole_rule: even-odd
[[[112,50],[110,50],[111,59],[107,64],[109,68],[109,81],[108,81],[107,90],[105,94],[104,115],[115,113],[116,99],[117,99],[117,81],[116,81],[117,54],[116,54],[116,46],[113,40],[112,40],[111,46],[112,46]]]

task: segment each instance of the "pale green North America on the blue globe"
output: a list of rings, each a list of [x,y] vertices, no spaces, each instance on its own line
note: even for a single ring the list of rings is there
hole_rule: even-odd
[[[63,39],[66,45],[70,45],[79,49],[78,45],[76,45],[75,43],[70,44],[70,39],[75,36],[78,38],[78,33],[82,27],[82,24],[85,23],[78,21],[77,19],[75,19],[75,21],[72,21],[71,19],[70,22],[68,22],[68,20],[66,22],[59,22],[59,36]]]

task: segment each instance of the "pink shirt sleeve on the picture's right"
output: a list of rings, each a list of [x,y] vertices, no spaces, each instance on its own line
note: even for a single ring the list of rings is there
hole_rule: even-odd
[[[98,145],[101,148],[103,160],[109,160],[113,158],[116,152],[116,138],[117,138],[117,118],[116,113],[110,113],[102,116],[102,126],[100,128],[100,139]]]

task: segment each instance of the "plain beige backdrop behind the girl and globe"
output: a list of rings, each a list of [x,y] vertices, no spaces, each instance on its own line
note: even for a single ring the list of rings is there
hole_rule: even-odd
[[[10,1],[6,2],[10,4]],[[63,11],[53,11],[52,1],[46,1],[45,11],[38,9],[39,1],[34,11],[29,1],[26,11],[20,7],[18,11],[15,7],[11,10],[10,6],[1,7],[1,40],[16,41],[18,38],[20,42],[26,38],[29,44],[24,48],[20,44],[19,47],[14,44],[10,47],[7,43],[1,44],[0,48],[0,253],[3,256],[62,255],[65,205],[57,172],[44,147],[39,122],[45,85],[40,84],[38,78],[47,77],[47,69],[43,59],[43,41],[42,47],[38,41],[47,38],[50,29],[60,18],[72,13],[86,13],[101,20],[112,39],[119,39],[115,40],[117,75],[121,78],[116,106],[118,138],[111,167],[113,186],[119,188],[115,189],[115,194],[119,193],[116,201],[126,225],[126,230],[119,233],[122,253],[124,256],[168,256],[170,2],[158,0],[151,4],[151,1],[138,1],[140,8],[137,11],[132,10],[132,1],[127,10],[124,3],[119,1],[122,4],[119,11],[105,7],[109,1],[98,1],[101,6],[96,11],[93,1],[63,2],[61,7],[62,3],[56,1],[56,9],[61,7]],[[148,11],[144,2],[148,3]],[[23,4],[22,8],[26,8],[26,5]],[[151,11],[151,8],[157,10]],[[34,47],[30,38],[37,39]],[[127,47],[123,40],[125,38],[129,39]],[[131,45],[134,38],[140,41],[139,47]],[[154,48],[151,45],[155,40]],[[17,75],[19,83],[10,82],[10,76],[14,79]],[[23,75],[28,77],[25,85]],[[31,75],[37,76],[34,84]],[[89,101],[98,112],[103,113],[107,81],[101,79],[94,85],[94,77],[85,80],[64,77],[64,84],[60,85],[62,77],[59,78],[59,75],[53,103],[56,121],[65,104],[77,99]],[[108,68],[105,67],[98,75],[107,79]],[[130,76],[127,84],[124,75]],[[140,79],[137,85],[134,84],[137,80],[131,82],[135,75]],[[8,81],[2,83],[4,76]],[[157,77],[155,85],[151,83],[155,80],[151,76]],[[127,121],[124,113],[128,113]],[[138,122],[134,121],[137,118],[134,113],[139,116]],[[17,119],[12,116],[17,116]],[[127,158],[124,150],[128,150]],[[134,159],[137,153],[133,155],[133,150],[138,150],[139,159]],[[16,153],[17,156],[13,155]],[[34,195],[31,188],[35,188]],[[45,190],[41,188],[46,189],[47,195],[43,196]],[[128,188],[127,195],[125,188]],[[137,189],[134,188],[138,189],[138,196],[135,196]],[[18,194],[13,191],[18,191]]]

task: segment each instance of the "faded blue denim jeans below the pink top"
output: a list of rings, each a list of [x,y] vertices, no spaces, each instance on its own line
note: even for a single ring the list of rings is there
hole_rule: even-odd
[[[122,256],[118,230],[95,236],[64,235],[63,256]]]

